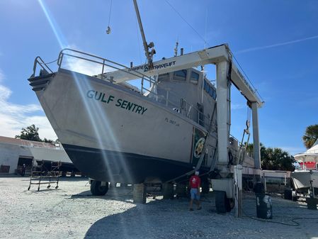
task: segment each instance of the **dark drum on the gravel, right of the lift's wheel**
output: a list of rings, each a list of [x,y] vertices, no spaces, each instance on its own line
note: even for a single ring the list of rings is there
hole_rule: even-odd
[[[263,219],[273,218],[272,199],[268,194],[256,194],[256,216]]]

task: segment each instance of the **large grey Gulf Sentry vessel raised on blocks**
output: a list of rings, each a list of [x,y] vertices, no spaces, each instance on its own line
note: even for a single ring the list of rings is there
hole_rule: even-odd
[[[71,55],[92,57],[62,50],[57,72],[42,70],[29,80],[81,172],[102,182],[165,182],[198,165],[205,144],[200,169],[210,170],[216,160],[216,89],[203,72],[188,68],[152,79],[125,68],[142,78],[137,89],[105,73],[89,76],[65,69],[64,60]],[[208,131],[212,133],[207,138]]]

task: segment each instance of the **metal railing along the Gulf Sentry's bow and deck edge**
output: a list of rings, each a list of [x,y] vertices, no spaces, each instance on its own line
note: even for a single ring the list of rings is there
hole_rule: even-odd
[[[81,64],[81,62],[79,62],[81,60],[85,62],[90,62],[90,64],[93,65],[89,65],[89,67],[84,67],[84,65]],[[103,57],[98,57],[96,55],[92,55],[86,52],[81,52],[79,50],[72,50],[69,48],[65,48],[61,50],[61,52],[59,52],[57,65],[58,70],[72,70],[74,72],[84,74],[91,73],[90,75],[93,75],[93,77],[98,77],[100,79],[114,84],[123,84],[123,82],[116,83],[115,79],[113,79],[112,77],[107,78],[105,76],[106,73],[117,70],[123,72],[123,74],[130,74],[134,78],[140,79],[140,87],[137,87],[137,92],[142,94],[142,96],[152,98],[155,101],[159,101],[162,104],[165,104],[166,107],[168,107],[169,109],[177,111],[178,113],[183,114],[183,116],[186,116],[187,118],[191,118],[193,121],[199,123],[201,126],[208,127],[210,124],[210,118],[208,116],[206,116],[203,112],[199,111],[197,107],[188,103],[185,99],[183,99],[182,96],[176,94],[176,92],[171,91],[169,89],[165,89],[166,95],[158,94],[158,75],[155,75],[154,77],[149,77],[146,74],[137,72],[131,67],[127,67],[112,60],[108,60]],[[99,67],[96,68],[96,66]],[[92,69],[95,71],[93,72]],[[127,82],[125,82],[125,87],[131,89],[132,91],[136,91],[136,86],[129,84]],[[171,99],[174,99],[174,101]],[[176,99],[178,99],[178,102],[176,102]]]

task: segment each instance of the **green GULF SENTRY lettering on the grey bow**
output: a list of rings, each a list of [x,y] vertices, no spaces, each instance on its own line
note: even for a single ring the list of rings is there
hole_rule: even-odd
[[[115,96],[111,96],[111,95],[106,96],[105,93],[94,91],[92,89],[87,91],[86,96],[89,99],[95,99],[96,101],[101,101],[106,104],[110,104],[110,102],[114,102],[115,106],[126,109],[127,111],[135,112],[135,113],[144,114],[144,112],[147,111],[147,108],[144,108],[144,106],[140,106],[130,101],[125,101],[124,99],[117,99],[117,101],[115,101]]]

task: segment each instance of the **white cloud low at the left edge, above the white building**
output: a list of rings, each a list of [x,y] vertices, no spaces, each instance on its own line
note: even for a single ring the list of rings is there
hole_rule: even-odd
[[[4,74],[0,70],[0,83]],[[0,84],[0,135],[14,137],[20,134],[21,128],[34,124],[39,129],[40,138],[55,140],[57,136],[45,116],[35,116],[42,111],[38,104],[13,104],[9,102],[11,89]]]

